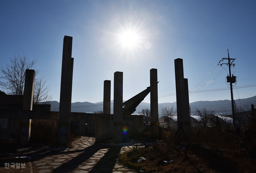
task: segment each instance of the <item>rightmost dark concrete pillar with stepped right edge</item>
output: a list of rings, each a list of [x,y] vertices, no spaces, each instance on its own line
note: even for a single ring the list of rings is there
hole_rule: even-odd
[[[181,135],[180,140],[185,140],[186,135],[188,135],[187,127],[190,126],[188,83],[187,79],[184,79],[183,59],[175,59],[174,64],[178,128],[183,128],[185,134]]]

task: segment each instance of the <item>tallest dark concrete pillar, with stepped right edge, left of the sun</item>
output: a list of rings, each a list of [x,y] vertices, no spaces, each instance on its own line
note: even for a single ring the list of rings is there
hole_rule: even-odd
[[[72,97],[73,63],[72,37],[64,36],[62,68],[61,68],[61,93],[59,99],[59,145],[67,145],[70,137],[70,112]]]

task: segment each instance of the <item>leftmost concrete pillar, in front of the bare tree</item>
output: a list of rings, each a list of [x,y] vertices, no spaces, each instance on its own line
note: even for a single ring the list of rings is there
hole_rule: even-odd
[[[35,70],[26,70],[22,109],[32,111],[34,96]],[[20,145],[26,145],[30,140],[31,119],[21,120]]]

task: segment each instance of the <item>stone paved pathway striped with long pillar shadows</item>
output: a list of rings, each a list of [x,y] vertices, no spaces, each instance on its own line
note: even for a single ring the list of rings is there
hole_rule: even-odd
[[[81,137],[72,143],[73,148],[56,150],[20,150],[32,157],[39,173],[136,173],[116,162],[119,153],[131,146],[94,144],[95,138]]]

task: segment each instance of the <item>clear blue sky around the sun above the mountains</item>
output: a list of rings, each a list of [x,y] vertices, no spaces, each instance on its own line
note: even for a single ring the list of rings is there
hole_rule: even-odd
[[[67,35],[73,37],[72,102],[101,102],[104,80],[111,80],[113,99],[116,71],[123,72],[123,99],[128,100],[150,85],[151,68],[158,70],[158,103],[175,102],[177,58],[183,59],[190,102],[230,100],[228,68],[217,65],[229,49],[230,58],[236,59],[234,99],[252,97],[255,8],[254,0],[2,0],[0,65],[17,52],[38,57],[36,68],[46,75],[53,100],[59,101]],[[129,44],[125,33],[133,34]],[[150,102],[149,96],[144,102]]]

